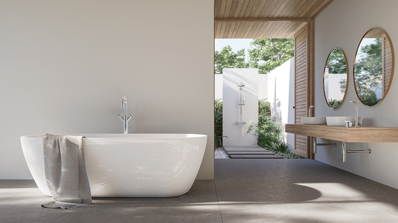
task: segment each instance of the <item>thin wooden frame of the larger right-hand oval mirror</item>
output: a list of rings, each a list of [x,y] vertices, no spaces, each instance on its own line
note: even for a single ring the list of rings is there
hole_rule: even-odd
[[[387,38],[388,41],[389,41],[389,44],[390,44],[390,47],[391,47],[391,58],[392,58],[392,59],[391,59],[391,60],[392,60],[392,61],[391,61],[391,75],[390,75],[390,79],[389,79],[389,82],[388,82],[388,87],[387,87],[387,89],[385,90],[385,92],[383,93],[383,97],[380,99],[380,101],[377,102],[377,103],[374,104],[374,105],[367,105],[367,104],[365,104],[365,103],[361,100],[361,98],[359,97],[358,91],[357,91],[357,86],[356,86],[356,83],[355,83],[355,62],[356,62],[356,60],[357,60],[357,54],[358,54],[359,46],[361,45],[361,42],[362,42],[363,38],[365,38],[365,36],[366,36],[370,31],[375,30],[375,29],[379,29],[380,31],[382,31],[382,32],[386,35],[386,38]],[[382,57],[382,58],[383,58],[383,60],[384,60],[384,51],[383,51],[382,53],[383,53],[383,57]],[[382,64],[384,64],[384,61],[382,62]],[[387,93],[388,93],[388,91],[390,90],[390,87],[391,87],[392,77],[393,77],[393,75],[394,75],[394,64],[395,64],[395,60],[394,60],[394,47],[392,46],[392,41],[391,41],[391,39],[390,39],[390,36],[388,36],[387,32],[386,32],[385,30],[379,28],[379,27],[374,27],[374,28],[368,30],[368,31],[362,36],[361,41],[359,41],[359,44],[358,44],[358,47],[357,47],[357,51],[355,52],[354,67],[353,67],[353,80],[354,80],[354,89],[355,89],[355,93],[357,94],[358,99],[361,101],[361,103],[362,103],[363,105],[368,106],[368,107],[372,107],[372,106],[379,105],[379,104],[384,100],[384,98],[386,97],[386,95],[387,95]],[[383,68],[382,68],[382,69],[383,69]],[[384,81],[382,81],[382,85],[384,85],[383,82],[384,82]]]

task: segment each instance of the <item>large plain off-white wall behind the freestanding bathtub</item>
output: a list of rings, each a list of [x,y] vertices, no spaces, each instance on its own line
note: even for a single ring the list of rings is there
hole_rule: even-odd
[[[213,179],[213,0],[0,2],[0,179],[30,179],[19,137],[208,135]],[[200,65],[200,66],[198,66]]]

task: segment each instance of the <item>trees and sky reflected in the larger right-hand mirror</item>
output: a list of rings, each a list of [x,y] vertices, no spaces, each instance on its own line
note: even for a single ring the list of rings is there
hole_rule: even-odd
[[[361,46],[358,54],[360,59],[355,61],[355,87],[361,101],[372,106],[382,98],[382,39],[374,38],[371,44]]]

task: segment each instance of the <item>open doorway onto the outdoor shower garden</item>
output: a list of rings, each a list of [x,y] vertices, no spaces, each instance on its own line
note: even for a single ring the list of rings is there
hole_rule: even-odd
[[[301,158],[294,119],[291,38],[215,39],[215,158]]]

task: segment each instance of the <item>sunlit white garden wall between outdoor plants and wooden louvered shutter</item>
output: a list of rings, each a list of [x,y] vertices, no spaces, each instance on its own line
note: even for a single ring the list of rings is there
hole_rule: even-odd
[[[285,124],[294,124],[294,57],[269,72],[267,76],[271,115]],[[287,133],[286,142],[293,147],[294,134]]]

